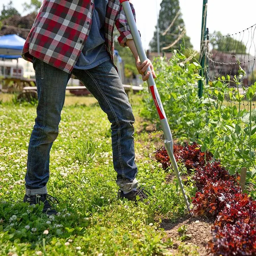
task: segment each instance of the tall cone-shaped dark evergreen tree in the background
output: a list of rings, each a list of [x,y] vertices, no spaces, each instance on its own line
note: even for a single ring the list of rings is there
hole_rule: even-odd
[[[160,50],[163,47],[169,46],[177,41],[172,47],[161,50],[165,52],[180,49],[180,43],[185,44],[185,47],[192,48],[190,38],[186,35],[185,24],[180,13],[179,0],[162,0],[161,9],[159,11],[159,33],[160,33]],[[170,27],[170,25],[172,26]],[[168,29],[169,28],[169,29]],[[168,29],[168,30],[167,30]],[[163,35],[164,33],[164,35]],[[151,51],[157,51],[156,31],[149,46]]]

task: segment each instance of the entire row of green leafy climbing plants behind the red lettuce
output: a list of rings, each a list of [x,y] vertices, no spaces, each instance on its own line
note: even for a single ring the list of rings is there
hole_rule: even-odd
[[[247,182],[251,196],[256,193],[256,119],[253,100],[256,83],[239,93],[242,68],[232,80],[229,75],[205,85],[199,75],[200,65],[176,52],[169,62],[157,59],[156,85],[174,137],[180,143],[198,141],[201,151],[210,151],[231,174],[247,167]],[[198,81],[204,83],[203,97],[198,98]],[[249,105],[247,109],[243,101]],[[235,104],[236,103],[236,104]],[[160,126],[151,96],[145,94],[141,115]]]

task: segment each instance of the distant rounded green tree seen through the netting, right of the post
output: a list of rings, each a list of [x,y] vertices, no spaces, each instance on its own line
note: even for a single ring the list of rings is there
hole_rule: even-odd
[[[234,39],[232,36],[223,36],[220,31],[214,31],[215,36],[211,37],[210,44],[213,50],[220,52],[230,52],[245,54],[246,47],[242,41]]]

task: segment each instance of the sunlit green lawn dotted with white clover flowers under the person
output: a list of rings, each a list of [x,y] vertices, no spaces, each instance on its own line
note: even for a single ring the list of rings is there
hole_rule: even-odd
[[[58,215],[22,203],[27,147],[36,107],[14,104],[0,94],[0,255],[162,255],[173,242],[161,219],[177,220],[185,204],[177,183],[154,160],[163,145],[139,117],[141,99],[133,96],[137,179],[152,193],[150,204],[117,200],[107,115],[92,97],[67,95],[53,143],[49,194],[59,199]],[[140,132],[140,133],[139,133]],[[186,189],[193,195],[192,183]],[[47,230],[47,231],[46,231]],[[177,255],[198,255],[192,245]],[[173,255],[173,254],[172,254]]]

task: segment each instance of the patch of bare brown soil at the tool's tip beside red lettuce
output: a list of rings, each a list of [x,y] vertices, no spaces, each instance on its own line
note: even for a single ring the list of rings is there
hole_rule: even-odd
[[[178,249],[176,248],[178,248],[181,243],[181,241],[178,240],[178,228],[182,225],[186,225],[186,235],[191,235],[191,238],[184,241],[184,243],[197,246],[199,255],[205,256],[212,255],[209,253],[209,251],[207,251],[206,245],[207,242],[212,239],[211,226],[213,225],[213,222],[213,219],[205,217],[184,216],[179,218],[175,223],[169,219],[162,220],[161,228],[165,229],[167,237],[173,239],[174,247],[170,248],[169,250],[175,255],[178,253]]]

